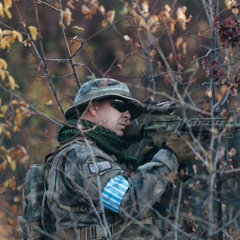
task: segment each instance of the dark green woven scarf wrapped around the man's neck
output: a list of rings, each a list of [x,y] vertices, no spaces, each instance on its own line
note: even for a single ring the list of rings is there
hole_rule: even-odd
[[[61,145],[84,135],[95,142],[104,152],[111,156],[114,155],[119,162],[133,165],[138,164],[136,158],[128,156],[124,148],[125,142],[114,132],[87,120],[82,119],[79,123],[83,126],[82,132],[77,127],[77,119],[69,120],[67,124],[59,130],[57,139]]]

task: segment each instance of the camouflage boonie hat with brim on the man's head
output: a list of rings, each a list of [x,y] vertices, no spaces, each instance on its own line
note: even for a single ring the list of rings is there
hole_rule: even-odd
[[[129,88],[126,84],[110,78],[99,78],[84,83],[79,89],[73,105],[69,107],[64,116],[68,120],[77,116],[77,109],[86,107],[92,100],[116,97],[127,100],[131,120],[139,117],[143,113],[143,105],[132,98]]]

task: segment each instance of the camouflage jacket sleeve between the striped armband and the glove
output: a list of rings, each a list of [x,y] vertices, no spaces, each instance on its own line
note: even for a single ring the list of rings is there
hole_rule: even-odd
[[[141,217],[159,202],[161,196],[172,188],[168,174],[176,174],[178,166],[176,156],[166,149],[161,149],[150,162],[140,166],[128,179],[130,186],[121,202],[121,217]]]

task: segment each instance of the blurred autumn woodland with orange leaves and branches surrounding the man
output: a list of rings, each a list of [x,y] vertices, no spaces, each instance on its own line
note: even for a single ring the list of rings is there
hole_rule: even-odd
[[[235,0],[1,0],[0,239],[21,239],[25,174],[56,148],[64,110],[87,80],[118,79],[142,102],[175,101],[180,117],[238,120],[239,8]],[[195,146],[195,176],[176,181],[174,217],[162,228],[240,239],[239,134],[212,132]]]

